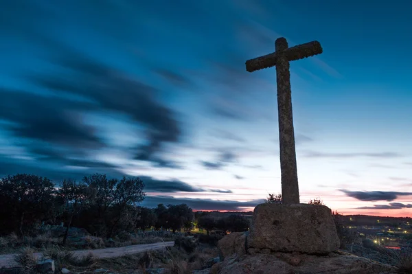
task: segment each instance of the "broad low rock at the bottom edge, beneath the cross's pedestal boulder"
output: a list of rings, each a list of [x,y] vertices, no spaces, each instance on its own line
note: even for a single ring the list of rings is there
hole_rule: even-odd
[[[231,256],[224,262],[214,264],[210,273],[394,274],[396,271],[394,266],[347,254],[337,254],[331,258],[304,253],[256,253],[240,257]]]

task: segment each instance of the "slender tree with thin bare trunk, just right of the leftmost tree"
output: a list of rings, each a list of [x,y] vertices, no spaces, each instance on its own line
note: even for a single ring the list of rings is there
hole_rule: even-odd
[[[58,196],[62,199],[65,205],[65,212],[67,212],[67,227],[65,236],[63,236],[63,245],[66,244],[73,216],[79,214],[91,199],[91,192],[89,190],[85,183],[76,183],[76,181],[71,179],[63,180],[60,185]]]

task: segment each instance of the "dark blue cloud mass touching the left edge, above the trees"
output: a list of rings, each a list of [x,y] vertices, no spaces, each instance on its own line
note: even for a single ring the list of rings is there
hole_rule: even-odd
[[[18,137],[78,148],[104,147],[95,128],[82,122],[80,111],[93,109],[92,104],[12,89],[0,89],[0,96],[0,118],[12,122],[8,130]]]

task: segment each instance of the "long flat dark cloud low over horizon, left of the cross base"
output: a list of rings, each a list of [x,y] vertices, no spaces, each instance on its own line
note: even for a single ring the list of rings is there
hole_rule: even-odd
[[[211,199],[201,198],[174,198],[172,196],[146,196],[141,205],[145,207],[157,207],[159,203],[164,205],[179,205],[185,203],[194,210],[227,210],[227,211],[241,211],[242,207],[255,207],[264,200],[252,200],[248,202],[238,201],[217,201]]]

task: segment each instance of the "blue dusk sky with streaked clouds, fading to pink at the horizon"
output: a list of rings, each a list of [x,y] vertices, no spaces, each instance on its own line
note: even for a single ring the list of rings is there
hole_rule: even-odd
[[[412,217],[412,2],[0,0],[0,176],[139,176],[141,204],[253,210],[281,193],[290,62],[301,203]]]

